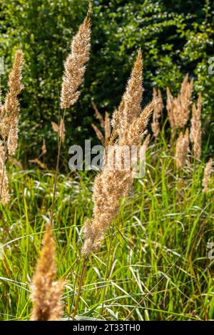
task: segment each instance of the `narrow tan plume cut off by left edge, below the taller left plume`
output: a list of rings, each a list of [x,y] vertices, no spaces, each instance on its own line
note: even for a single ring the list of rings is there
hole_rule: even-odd
[[[6,205],[9,202],[9,183],[6,175],[5,150],[0,145],[0,203]]]

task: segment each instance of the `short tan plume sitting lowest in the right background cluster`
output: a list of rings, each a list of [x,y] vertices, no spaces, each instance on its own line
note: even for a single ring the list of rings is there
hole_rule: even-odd
[[[186,163],[187,155],[189,150],[189,130],[188,128],[185,130],[185,134],[183,135],[180,132],[176,143],[176,166],[178,169],[183,168]]]

